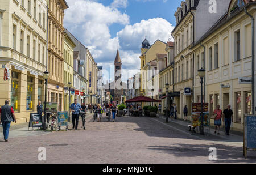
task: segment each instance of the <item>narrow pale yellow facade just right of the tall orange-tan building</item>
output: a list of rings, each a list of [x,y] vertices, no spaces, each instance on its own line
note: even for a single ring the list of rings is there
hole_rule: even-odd
[[[76,47],[75,43],[72,39],[65,35],[64,37],[64,72],[63,72],[63,80],[64,86],[68,87],[68,83],[71,82],[71,86],[73,86],[73,49]],[[64,90],[64,111],[69,110],[69,91]],[[71,99],[72,102],[72,99]]]

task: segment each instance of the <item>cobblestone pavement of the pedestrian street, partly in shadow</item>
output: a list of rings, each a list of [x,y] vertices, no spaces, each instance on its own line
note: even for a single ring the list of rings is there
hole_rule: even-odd
[[[70,126],[72,127],[72,126]],[[86,130],[52,132],[0,142],[0,163],[256,163],[256,152],[242,156],[242,143],[217,136],[193,136],[185,127],[161,118],[117,117],[116,122],[92,122]],[[213,138],[212,138],[213,137]],[[46,161],[38,148],[46,148]],[[209,161],[209,148],[217,148],[217,161]]]

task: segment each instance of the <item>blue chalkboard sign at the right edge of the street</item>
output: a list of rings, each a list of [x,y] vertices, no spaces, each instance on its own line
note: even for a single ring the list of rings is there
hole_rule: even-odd
[[[246,148],[256,148],[256,116],[246,116],[245,118],[245,141]]]

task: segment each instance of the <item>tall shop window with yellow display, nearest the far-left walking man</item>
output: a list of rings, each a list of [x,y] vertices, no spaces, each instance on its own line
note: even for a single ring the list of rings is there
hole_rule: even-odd
[[[11,72],[11,106],[13,110],[18,111],[18,86],[19,86],[19,73]]]

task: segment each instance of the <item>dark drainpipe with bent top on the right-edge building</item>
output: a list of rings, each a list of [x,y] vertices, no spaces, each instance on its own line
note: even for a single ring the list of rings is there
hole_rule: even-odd
[[[250,16],[251,18],[251,41],[252,41],[252,44],[251,44],[251,78],[252,78],[252,82],[251,82],[251,94],[252,94],[252,101],[251,101],[251,108],[252,108],[252,112],[253,114],[255,114],[255,104],[254,104],[254,18],[251,14],[249,14],[247,12],[247,9],[245,7],[245,14]]]

